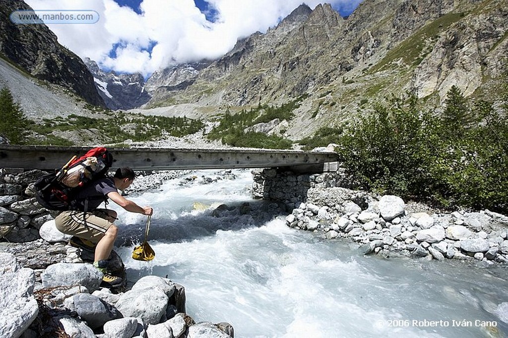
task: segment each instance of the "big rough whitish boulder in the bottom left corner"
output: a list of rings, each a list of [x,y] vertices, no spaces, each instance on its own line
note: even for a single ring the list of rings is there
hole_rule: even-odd
[[[19,337],[39,313],[34,297],[35,274],[19,268],[13,254],[0,252],[0,337]]]

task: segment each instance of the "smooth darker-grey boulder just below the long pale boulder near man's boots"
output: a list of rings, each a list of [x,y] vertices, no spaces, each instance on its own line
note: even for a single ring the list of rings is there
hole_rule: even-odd
[[[72,299],[74,311],[92,329],[103,326],[107,321],[121,317],[120,313],[112,305],[91,294],[78,293]]]

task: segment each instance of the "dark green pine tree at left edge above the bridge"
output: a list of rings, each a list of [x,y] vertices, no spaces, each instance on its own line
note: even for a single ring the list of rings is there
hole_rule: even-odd
[[[0,90],[0,135],[11,144],[21,144],[26,137],[27,118],[18,103],[14,102],[9,88]]]

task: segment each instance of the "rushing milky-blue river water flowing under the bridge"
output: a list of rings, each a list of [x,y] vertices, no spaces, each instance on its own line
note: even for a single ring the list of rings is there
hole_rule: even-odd
[[[248,171],[235,180],[200,184],[175,179],[161,191],[129,198],[154,208],[150,263],[133,245],[115,250],[135,282],[153,274],[182,284],[196,321],[229,322],[236,337],[503,337],[496,315],[508,301],[508,274],[464,262],[363,256],[345,240],[285,226],[273,205],[251,200]],[[183,183],[182,183],[183,182]],[[195,202],[238,209],[194,211]],[[141,240],[145,218],[119,212],[119,245]],[[458,325],[467,326],[458,326]],[[482,327],[488,325],[490,327]],[[495,326],[497,325],[497,326]]]

